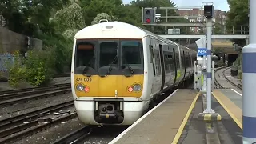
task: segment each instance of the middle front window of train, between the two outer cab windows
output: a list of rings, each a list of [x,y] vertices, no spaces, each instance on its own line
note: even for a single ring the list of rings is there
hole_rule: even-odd
[[[99,68],[110,64],[118,64],[118,42],[101,42]]]

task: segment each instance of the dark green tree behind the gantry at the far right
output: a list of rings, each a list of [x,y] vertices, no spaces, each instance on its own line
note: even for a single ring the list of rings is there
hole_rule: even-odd
[[[233,30],[233,26],[248,26],[249,25],[249,9],[248,1],[245,0],[227,0],[230,5],[230,10],[227,13],[226,29]],[[240,27],[234,27],[234,30]],[[246,29],[247,31],[249,29]],[[246,41],[243,39],[233,39],[232,42],[237,43],[239,46],[245,46]]]

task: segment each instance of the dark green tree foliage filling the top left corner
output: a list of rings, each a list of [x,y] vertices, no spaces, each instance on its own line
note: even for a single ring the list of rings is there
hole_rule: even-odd
[[[53,31],[49,23],[51,11],[62,9],[69,2],[69,0],[2,0],[0,10],[6,20],[6,27],[14,32],[24,34],[25,29],[29,30],[28,27],[34,25],[32,27],[38,26],[43,32],[47,33]],[[33,30],[36,29],[33,28]]]

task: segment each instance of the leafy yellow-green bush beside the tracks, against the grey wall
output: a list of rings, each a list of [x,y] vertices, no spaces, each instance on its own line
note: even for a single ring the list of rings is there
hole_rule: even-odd
[[[32,86],[41,86],[50,82],[54,75],[54,53],[47,50],[29,50],[22,58],[18,50],[14,53],[14,62],[8,62],[10,86],[18,87],[20,82],[29,82]],[[22,65],[23,63],[23,65]]]

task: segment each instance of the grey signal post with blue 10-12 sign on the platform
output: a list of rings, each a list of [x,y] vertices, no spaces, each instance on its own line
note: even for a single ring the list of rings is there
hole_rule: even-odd
[[[211,92],[212,92],[212,52],[211,52],[211,35],[212,35],[212,16],[214,14],[214,6],[205,5],[204,6],[204,16],[207,18],[206,23],[206,47],[198,50],[198,54],[201,54],[203,58],[203,63],[206,66],[203,66],[202,71],[204,71],[204,82],[201,90],[203,108],[205,109],[202,113],[198,114],[198,120],[205,121],[206,125],[206,139],[207,141],[211,139],[213,143],[220,143],[218,138],[217,124],[214,121],[219,121],[222,119],[220,114],[215,113],[211,108]],[[204,45],[205,46],[205,45]],[[207,58],[207,61],[206,61]]]

